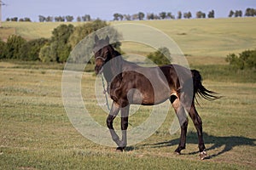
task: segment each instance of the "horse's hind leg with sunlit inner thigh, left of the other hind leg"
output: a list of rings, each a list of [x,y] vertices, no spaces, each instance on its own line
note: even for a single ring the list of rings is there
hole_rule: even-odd
[[[183,108],[183,106],[180,105],[179,98],[177,95],[172,94],[170,101],[172,103],[172,106],[174,108],[174,111],[176,112],[178,122],[181,126],[181,134],[180,134],[180,141],[177,146],[177,149],[175,152],[177,154],[180,154],[181,150],[186,148],[186,137],[187,137],[187,129],[189,124],[189,119],[186,115],[186,112]]]

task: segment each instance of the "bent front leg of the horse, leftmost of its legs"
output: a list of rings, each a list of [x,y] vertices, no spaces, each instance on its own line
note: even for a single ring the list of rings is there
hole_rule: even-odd
[[[111,137],[112,137],[113,141],[116,144],[118,144],[118,146],[121,143],[121,141],[119,140],[118,134],[115,133],[115,131],[113,129],[113,120],[118,115],[119,110],[120,110],[119,105],[116,104],[115,102],[113,102],[113,104],[111,106],[111,110],[110,110],[108,118],[107,118],[107,126],[108,126],[108,129],[110,131]]]

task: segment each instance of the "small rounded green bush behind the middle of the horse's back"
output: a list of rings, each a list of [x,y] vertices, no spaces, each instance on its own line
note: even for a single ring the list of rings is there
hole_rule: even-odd
[[[154,62],[155,65],[170,65],[172,58],[168,48],[159,48],[154,53],[147,55],[148,59]]]

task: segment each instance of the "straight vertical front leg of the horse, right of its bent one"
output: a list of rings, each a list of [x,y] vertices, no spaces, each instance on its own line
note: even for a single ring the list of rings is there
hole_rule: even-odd
[[[121,108],[121,130],[122,140],[117,150],[123,151],[127,145],[127,128],[128,128],[128,117],[129,117],[130,105]]]

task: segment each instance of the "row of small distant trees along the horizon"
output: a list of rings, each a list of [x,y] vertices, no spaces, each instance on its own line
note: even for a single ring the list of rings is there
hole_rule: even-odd
[[[242,10],[230,10],[228,17],[254,17],[256,16],[256,8],[247,8],[243,13]],[[193,18],[193,15],[190,11],[182,12],[178,11],[177,15],[172,14],[172,12],[161,12],[159,14],[148,13],[144,14],[143,12],[139,12],[137,14],[113,14],[113,20],[175,20],[175,19],[190,19]],[[215,18],[214,10],[208,11],[208,13],[204,13],[202,11],[197,11],[195,13],[194,18]],[[39,22],[82,22],[82,21],[91,21],[90,14],[84,14],[83,16],[73,17],[72,15],[67,16],[38,16]],[[28,21],[32,20],[28,17],[19,19],[18,17],[7,18],[6,21]]]

